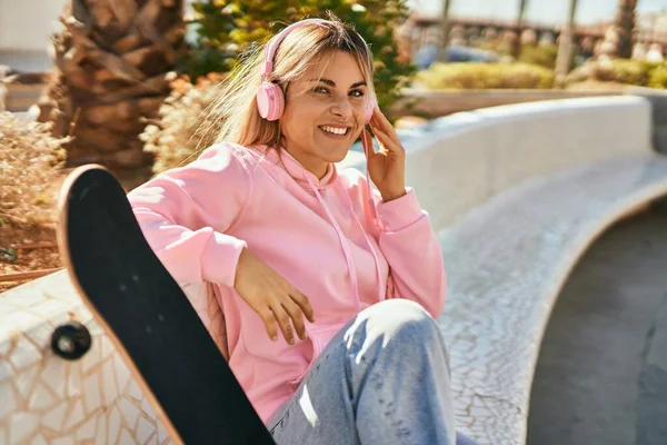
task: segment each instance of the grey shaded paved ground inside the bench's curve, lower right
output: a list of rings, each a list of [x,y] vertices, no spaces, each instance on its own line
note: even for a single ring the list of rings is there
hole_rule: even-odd
[[[667,444],[667,211],[607,231],[577,266],[540,350],[528,445]]]

